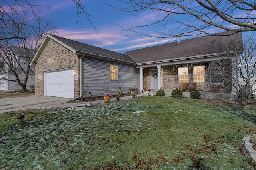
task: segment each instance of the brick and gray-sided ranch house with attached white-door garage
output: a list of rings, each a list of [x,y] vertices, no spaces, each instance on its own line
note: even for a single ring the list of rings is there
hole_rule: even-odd
[[[223,81],[223,73],[206,70],[208,62],[227,53],[236,59],[238,51],[227,50],[241,42],[241,33],[203,36],[120,54],[47,35],[31,62],[35,66],[35,93],[77,98],[83,92],[103,96],[122,90],[127,94],[135,86],[143,92],[163,88],[169,95],[181,83],[194,82],[203,98],[234,99],[232,84]]]

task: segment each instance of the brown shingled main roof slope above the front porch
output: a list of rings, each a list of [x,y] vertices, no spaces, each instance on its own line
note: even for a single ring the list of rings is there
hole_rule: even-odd
[[[210,55],[227,52],[235,43],[242,43],[242,34],[230,32],[218,33],[215,36],[206,35],[183,41],[156,45],[132,51],[127,51],[136,63],[160,61],[178,58],[193,58],[193,56]],[[224,36],[217,36],[224,35]]]

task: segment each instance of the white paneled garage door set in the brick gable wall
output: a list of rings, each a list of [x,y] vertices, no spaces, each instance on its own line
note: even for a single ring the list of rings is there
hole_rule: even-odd
[[[45,96],[74,98],[74,68],[46,72]]]

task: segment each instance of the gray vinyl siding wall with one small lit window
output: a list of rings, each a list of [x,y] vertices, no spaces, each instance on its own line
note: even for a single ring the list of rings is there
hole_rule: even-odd
[[[110,65],[118,66],[118,80],[110,80]],[[118,91],[128,94],[129,88],[140,88],[140,70],[135,65],[126,65],[96,59],[82,59],[82,86],[92,96],[104,93],[115,96]]]

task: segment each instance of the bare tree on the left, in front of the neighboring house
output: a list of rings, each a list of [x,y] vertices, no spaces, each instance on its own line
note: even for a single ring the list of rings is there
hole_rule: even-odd
[[[46,33],[54,33],[52,23],[42,16],[36,5],[29,1],[8,1],[0,6],[0,57],[14,78],[2,78],[17,82],[21,91],[26,90],[26,83],[30,72],[30,61],[38,49]],[[25,60],[14,57],[12,45],[18,46]]]

